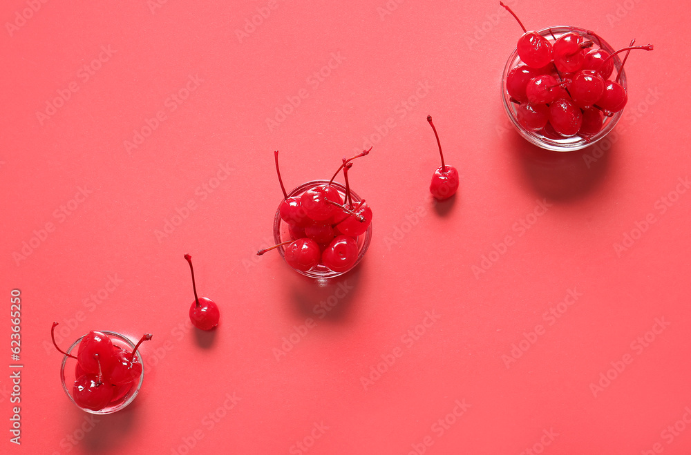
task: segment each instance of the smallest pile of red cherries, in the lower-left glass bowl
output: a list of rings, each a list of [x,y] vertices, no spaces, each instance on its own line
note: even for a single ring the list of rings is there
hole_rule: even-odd
[[[50,330],[53,345],[65,356],[77,360],[72,389],[72,398],[77,406],[100,411],[123,403],[142,376],[142,363],[136,352],[142,342],[151,340],[151,333],[142,336],[135,348],[129,351],[115,345],[105,333],[90,331],[79,342],[77,356],[73,356],[57,346],[57,325],[53,322]]]

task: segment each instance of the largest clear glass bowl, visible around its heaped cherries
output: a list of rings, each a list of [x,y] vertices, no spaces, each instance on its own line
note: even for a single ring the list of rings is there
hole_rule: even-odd
[[[547,38],[547,40],[552,44],[554,41],[556,41],[556,39],[559,39],[559,37],[569,32],[576,32],[578,35],[585,37],[585,39],[593,41],[594,45],[592,48],[594,49],[600,48],[606,50],[610,55],[612,52],[614,52],[614,49],[612,46],[609,46],[607,41],[600,38],[594,32],[585,30],[583,28],[556,26],[543,28],[542,30],[538,31],[540,35]],[[552,35],[554,35],[554,38]],[[614,75],[616,74],[616,71],[621,68],[621,60],[619,59],[618,55],[612,57],[612,60],[614,61],[614,72],[612,72],[612,75]],[[516,114],[518,113],[518,104],[511,102],[511,96],[509,96],[509,91],[507,90],[507,77],[509,72],[519,64],[522,64],[522,61],[520,60],[520,57],[518,57],[518,49],[513,49],[513,52],[507,60],[506,66],[504,66],[504,74],[502,75],[502,101],[504,102],[504,109],[507,112],[507,116],[509,117],[509,120],[513,126],[515,126],[516,130],[518,130],[518,133],[520,133],[520,135],[522,135],[522,137],[524,137],[528,142],[531,142],[531,144],[535,144],[538,147],[556,152],[571,152],[580,150],[581,148],[595,144],[600,139],[603,139],[603,137],[607,136],[607,134],[612,131],[616,123],[621,118],[623,110],[615,113],[612,117],[605,116],[603,127],[600,132],[589,137],[575,135],[571,137],[562,137],[560,139],[552,139],[550,137],[541,135],[539,132],[534,133],[533,131],[526,130],[523,128],[523,126],[521,126],[520,123],[518,123],[518,119],[516,117]],[[623,70],[619,76],[619,84],[621,84],[624,90],[626,90],[626,74]]]

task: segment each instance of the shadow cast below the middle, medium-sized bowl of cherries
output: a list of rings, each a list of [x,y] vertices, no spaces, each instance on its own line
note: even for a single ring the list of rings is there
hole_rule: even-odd
[[[366,276],[367,258],[344,275],[316,280],[299,275],[291,284],[291,297],[296,316],[303,320],[345,322],[352,317],[352,302],[357,289]]]

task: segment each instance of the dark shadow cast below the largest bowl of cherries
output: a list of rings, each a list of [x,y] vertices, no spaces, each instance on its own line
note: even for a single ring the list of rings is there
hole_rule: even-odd
[[[595,195],[618,145],[605,138],[579,151],[553,152],[527,142],[518,133],[510,140],[526,180],[553,202],[573,202]]]

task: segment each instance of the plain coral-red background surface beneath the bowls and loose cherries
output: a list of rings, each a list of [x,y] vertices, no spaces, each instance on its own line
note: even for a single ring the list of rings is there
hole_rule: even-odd
[[[627,63],[614,135],[559,154],[504,115],[500,75],[520,28],[495,1],[153,1],[0,7],[0,276],[6,310],[21,289],[23,365],[21,447],[5,430],[1,452],[307,453],[298,441],[314,454],[691,452],[685,4],[510,3],[529,29],[655,45]],[[461,175],[437,206],[428,113]],[[128,151],[135,131],[147,137]],[[319,284],[277,254],[256,258],[281,200],[272,152],[292,188],[367,141],[351,173],[374,211],[361,266]],[[88,197],[73,201],[80,188]],[[200,295],[220,305],[215,333],[190,329],[184,253]],[[483,256],[494,261],[477,272]],[[321,301],[337,303],[315,313]],[[90,420],[68,401],[53,320],[64,347],[91,329],[154,334],[133,405]],[[305,334],[277,360],[294,327]],[[524,339],[534,343],[507,367]],[[240,398],[229,411],[227,394]],[[456,400],[470,407],[448,416]],[[209,413],[223,417],[211,427]]]

